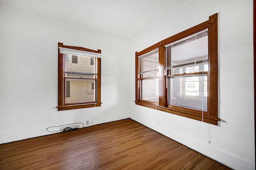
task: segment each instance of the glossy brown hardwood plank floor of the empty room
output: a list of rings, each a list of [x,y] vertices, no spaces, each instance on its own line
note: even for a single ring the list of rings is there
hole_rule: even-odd
[[[0,145],[0,170],[228,170],[230,168],[124,119]]]

